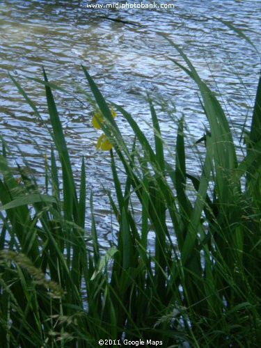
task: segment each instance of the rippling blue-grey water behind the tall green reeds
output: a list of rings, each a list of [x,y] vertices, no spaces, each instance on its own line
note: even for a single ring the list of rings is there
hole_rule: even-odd
[[[251,118],[260,72],[260,54],[219,20],[241,29],[260,52],[260,1],[142,2],[156,3],[159,8],[95,8],[97,4],[126,3],[100,0],[0,2],[0,135],[13,152],[10,162],[22,164],[24,158],[39,180],[42,177],[43,155],[48,156],[50,151],[49,135],[8,73],[19,81],[48,120],[44,88],[27,79],[42,79],[44,66],[49,81],[72,92],[55,92],[58,112],[76,177],[81,157],[86,161],[87,194],[93,190],[97,224],[103,236],[111,235],[115,229],[104,194],[111,187],[109,154],[95,150],[100,134],[91,126],[93,106],[84,94],[86,90],[90,95],[90,90],[81,64],[104,96],[132,113],[152,139],[150,111],[145,102],[146,93],[150,93],[164,140],[174,154],[175,120],[184,114],[191,171],[197,166],[193,141],[203,135],[207,122],[196,85],[169,59],[183,63],[182,57],[159,33],[182,47],[200,77],[219,96],[235,136],[237,129]],[[87,4],[93,4],[93,8],[87,8]],[[160,8],[161,4],[174,8]],[[75,100],[75,93],[84,104]],[[125,120],[120,115],[116,120],[122,134],[132,139]]]

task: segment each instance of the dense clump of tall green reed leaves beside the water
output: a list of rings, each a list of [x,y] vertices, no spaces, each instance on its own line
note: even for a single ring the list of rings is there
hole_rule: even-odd
[[[108,195],[119,228],[116,244],[105,253],[97,239],[92,196],[90,235],[84,230],[88,168],[83,159],[77,190],[52,94],[56,86],[45,71],[44,81],[36,80],[45,85],[52,129],[45,126],[54,149],[50,164],[45,159],[43,189],[30,168],[25,172],[18,166],[21,178],[15,179],[3,142],[1,346],[98,347],[99,339],[108,338],[141,339],[145,347],[153,345],[147,340],[161,341],[161,347],[184,342],[191,347],[255,347],[261,341],[261,80],[245,136],[246,155],[239,161],[221,104],[180,47],[168,41],[187,63],[185,68],[173,61],[198,85],[209,122],[199,173],[191,174],[191,168],[187,172],[183,117],[171,165],[155,101],[148,95],[153,147],[132,115],[110,103],[132,128],[135,140],[129,145],[83,67],[103,117],[97,122],[113,145],[116,199]],[[35,104],[11,78],[41,119]],[[124,184],[116,160],[125,171]],[[139,224],[132,209],[137,199]],[[150,230],[155,233],[154,252],[148,248]]]

